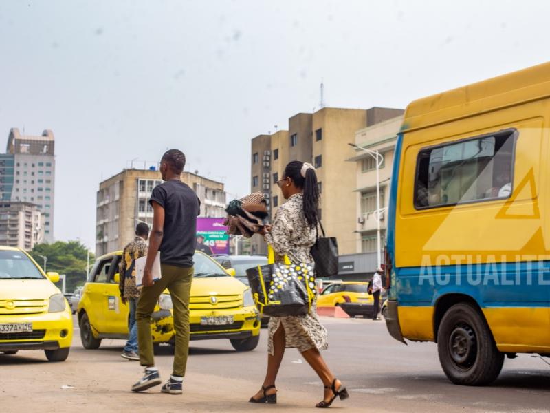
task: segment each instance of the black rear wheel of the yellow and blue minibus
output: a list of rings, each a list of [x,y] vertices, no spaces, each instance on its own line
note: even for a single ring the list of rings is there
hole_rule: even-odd
[[[439,362],[452,383],[488,385],[503,368],[499,352],[485,319],[467,303],[447,310],[437,332]]]

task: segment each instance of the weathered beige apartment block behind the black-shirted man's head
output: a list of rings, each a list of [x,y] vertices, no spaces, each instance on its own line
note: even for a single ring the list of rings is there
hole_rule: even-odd
[[[184,172],[181,180],[201,200],[201,216],[222,218],[225,214],[225,188],[221,182]],[[162,184],[154,169],[124,169],[100,183],[96,206],[96,255],[123,248],[134,237],[137,222],[153,224],[148,203],[153,188]]]

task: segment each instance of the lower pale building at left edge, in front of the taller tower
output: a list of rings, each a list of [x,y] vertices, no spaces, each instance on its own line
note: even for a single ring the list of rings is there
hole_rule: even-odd
[[[31,251],[44,242],[44,214],[31,202],[0,202],[0,245]]]

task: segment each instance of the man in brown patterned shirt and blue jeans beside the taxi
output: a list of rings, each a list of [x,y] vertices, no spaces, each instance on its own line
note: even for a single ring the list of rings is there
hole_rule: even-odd
[[[135,322],[135,308],[137,299],[140,297],[140,288],[135,285],[135,260],[147,255],[147,238],[149,237],[149,226],[140,222],[135,227],[135,238],[124,247],[122,260],[120,260],[120,297],[122,303],[128,303],[128,331],[129,337],[120,354],[124,359],[139,360],[137,355],[137,323]]]

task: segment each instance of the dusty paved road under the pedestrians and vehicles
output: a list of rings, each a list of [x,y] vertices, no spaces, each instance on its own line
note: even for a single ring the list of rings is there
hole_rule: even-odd
[[[487,388],[447,381],[433,343],[404,346],[391,339],[384,322],[323,319],[329,330],[329,366],[351,393],[334,407],[347,412],[550,412],[550,366],[521,355],[506,360]],[[0,412],[277,412],[311,411],[321,399],[316,375],[294,350],[287,350],[278,379],[277,406],[251,405],[265,368],[265,330],[259,348],[234,352],[228,341],[193,341],[185,394],[132,394],[140,377],[136,362],[120,357],[123,341],[104,340],[98,350],[74,348],[64,363],[47,363],[43,352],[0,355]],[[164,379],[171,349],[157,357]],[[550,361],[549,359],[546,359]],[[63,389],[63,385],[74,386]]]

